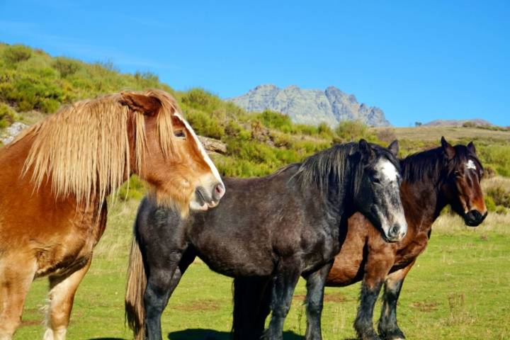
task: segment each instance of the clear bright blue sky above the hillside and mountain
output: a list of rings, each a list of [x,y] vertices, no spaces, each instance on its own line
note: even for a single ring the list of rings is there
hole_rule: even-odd
[[[0,1],[0,41],[223,98],[334,85],[393,125],[510,125],[510,1]]]

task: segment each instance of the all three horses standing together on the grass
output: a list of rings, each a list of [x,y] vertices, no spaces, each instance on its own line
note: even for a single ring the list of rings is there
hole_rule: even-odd
[[[222,179],[164,91],[61,108],[0,149],[0,339],[12,338],[42,276],[50,281],[44,339],[65,339],[74,293],[106,227],[106,197],[132,174],[150,187],[125,296],[135,339],[162,339],[162,312],[196,256],[234,278],[234,339],[282,339],[300,276],[305,339],[322,339],[324,286],[360,280],[359,338],[404,339],[397,300],[433,221],[450,205],[476,226],[487,208],[472,143],[442,138],[436,149],[397,153],[397,142],[360,140],[263,178]]]

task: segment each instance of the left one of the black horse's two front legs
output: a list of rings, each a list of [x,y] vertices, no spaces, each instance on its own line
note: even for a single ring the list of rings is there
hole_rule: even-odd
[[[283,339],[283,322],[290,310],[295,285],[300,278],[300,271],[300,259],[281,259],[274,278],[273,293],[271,295],[273,314],[264,338],[270,340]]]

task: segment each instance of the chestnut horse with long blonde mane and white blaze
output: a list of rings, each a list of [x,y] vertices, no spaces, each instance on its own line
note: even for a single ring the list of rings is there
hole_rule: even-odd
[[[50,280],[44,339],[64,339],[74,293],[106,227],[106,196],[137,174],[159,204],[205,210],[225,192],[176,101],[159,90],[79,101],[0,149],[0,339]]]

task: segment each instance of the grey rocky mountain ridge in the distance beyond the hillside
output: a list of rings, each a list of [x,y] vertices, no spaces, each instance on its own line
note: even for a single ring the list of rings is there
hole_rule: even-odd
[[[322,91],[297,86],[280,89],[265,84],[227,100],[246,111],[278,111],[288,115],[295,123],[307,125],[327,123],[334,127],[341,120],[361,120],[373,126],[390,125],[380,108],[360,104],[354,95],[346,94],[334,86]]]

